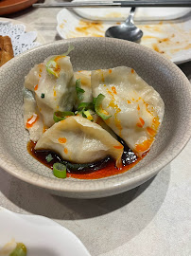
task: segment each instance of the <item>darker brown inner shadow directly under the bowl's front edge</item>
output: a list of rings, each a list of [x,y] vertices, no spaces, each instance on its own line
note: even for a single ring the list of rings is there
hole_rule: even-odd
[[[128,192],[97,199],[74,199],[50,194],[0,171],[0,190],[18,208],[33,214],[61,220],[78,220],[100,216],[127,206],[143,192],[147,191],[155,179],[162,178],[163,174],[164,172],[158,174],[158,176]],[[157,200],[159,203],[158,210],[161,203],[163,203],[169,175],[165,175],[165,183],[157,184],[155,192],[152,191],[149,194],[147,204],[149,203],[150,207],[152,204],[156,204]]]

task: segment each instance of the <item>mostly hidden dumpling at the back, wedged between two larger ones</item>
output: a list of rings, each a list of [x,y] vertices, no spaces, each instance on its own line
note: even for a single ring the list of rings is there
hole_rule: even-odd
[[[78,104],[80,102],[92,102],[93,95],[92,95],[92,88],[91,88],[91,71],[88,70],[81,70],[75,72],[75,78],[78,80],[80,79],[80,87],[84,90],[84,93],[81,95],[82,99],[79,100],[77,98],[75,102],[75,108],[78,109]]]

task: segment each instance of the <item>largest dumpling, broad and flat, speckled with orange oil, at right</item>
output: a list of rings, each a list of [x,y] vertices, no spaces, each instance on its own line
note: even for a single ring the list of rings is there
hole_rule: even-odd
[[[165,104],[158,92],[130,67],[92,72],[93,96],[103,94],[105,122],[138,156],[147,152],[162,123]]]

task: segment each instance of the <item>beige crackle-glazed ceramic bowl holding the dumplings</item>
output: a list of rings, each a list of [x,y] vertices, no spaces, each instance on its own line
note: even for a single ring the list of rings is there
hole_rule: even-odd
[[[58,179],[28,154],[28,133],[23,122],[24,79],[34,64],[68,46],[74,70],[127,65],[165,101],[165,118],[148,155],[130,171],[96,180]],[[9,174],[48,192],[74,198],[104,197],[128,191],[157,174],[176,157],[191,135],[191,90],[182,71],[157,52],[111,38],[78,38],[34,48],[0,68],[0,166]]]

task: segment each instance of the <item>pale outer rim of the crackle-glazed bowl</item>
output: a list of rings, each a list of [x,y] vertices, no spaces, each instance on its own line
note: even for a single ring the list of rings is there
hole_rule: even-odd
[[[44,47],[47,47],[48,49],[48,47],[61,46],[61,45],[64,46],[65,44],[72,44],[73,42],[81,42],[84,40],[92,41],[92,38],[91,37],[72,38],[72,39],[60,40],[58,42],[47,43],[43,46],[37,46],[10,60],[7,64],[1,67],[0,73],[1,73],[1,70],[7,69],[7,67],[11,66],[11,64],[17,62],[18,59],[23,57],[25,58],[25,56],[27,56],[29,53],[41,51],[41,49],[43,49]],[[97,43],[104,41],[106,43],[113,42],[113,44],[117,44],[119,41],[120,42],[123,41],[123,40],[113,39],[113,38],[96,38],[96,40],[97,40]],[[135,43],[123,41],[123,44],[126,44],[127,46],[132,46],[132,44],[135,44]],[[182,76],[182,79],[184,80],[184,84],[187,85],[187,89],[190,92],[190,96],[191,96],[190,82],[188,81],[188,79],[185,77],[185,75],[182,73],[182,70],[178,66],[173,64],[171,61],[167,60],[164,56],[162,56],[158,52],[155,52],[154,50],[151,50],[146,46],[137,45],[137,47],[146,51],[148,55],[155,54],[157,58],[165,60],[165,64],[169,66],[169,69],[171,68],[173,70],[176,70],[177,76],[178,75]],[[132,177],[127,176],[128,178],[126,178],[125,176],[125,174],[127,174],[128,172],[125,172],[123,174],[116,174],[110,177],[94,179],[94,180],[80,179],[80,182],[78,182],[78,179],[73,179],[73,178],[67,178],[64,180],[56,179],[56,178],[53,179],[52,177],[46,177],[46,176],[43,176],[42,174],[33,173],[32,175],[30,175],[29,172],[25,173],[24,175],[24,173],[21,170],[15,170],[12,166],[9,166],[9,164],[2,159],[0,159],[0,167],[2,167],[2,169],[7,171],[9,174],[12,174],[17,178],[23,181],[26,181],[29,184],[46,189],[48,191],[50,190],[51,192],[61,192],[63,196],[75,197],[75,198],[97,198],[97,197],[113,195],[119,192],[125,192],[136,186],[141,185],[142,183],[147,181],[149,178],[157,174],[160,170],[162,170],[165,167],[165,165],[170,163],[177,155],[179,155],[182,152],[182,149],[188,143],[190,137],[191,137],[191,120],[188,120],[188,127],[186,129],[186,133],[184,133],[183,135],[182,144],[179,144],[179,147],[176,148],[176,151],[174,151],[172,155],[169,155],[169,157],[167,158],[165,158],[164,155],[162,154],[158,155],[157,160],[158,162],[160,161],[160,165],[158,164],[157,166],[153,166],[151,163],[148,163],[147,168],[149,171],[147,173],[139,174],[137,176],[132,176]],[[104,186],[101,186],[101,183],[103,183],[102,181],[106,179],[107,179],[107,182],[104,182]],[[113,179],[115,179],[115,181],[113,181]],[[52,182],[53,180],[54,182]],[[94,182],[95,185],[90,187],[83,186],[84,182],[85,183]],[[68,183],[69,183],[69,186],[68,186]],[[66,186],[64,186],[63,184],[65,184]],[[74,184],[74,185],[78,184],[78,185],[74,187],[74,186],[71,186],[71,184]],[[97,194],[97,192],[99,192],[99,194]]]

